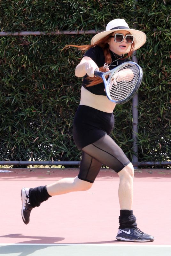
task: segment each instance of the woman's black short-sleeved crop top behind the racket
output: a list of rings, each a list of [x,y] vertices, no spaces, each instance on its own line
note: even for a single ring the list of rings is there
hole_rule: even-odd
[[[84,56],[87,56],[87,57],[90,57],[92,60],[94,60],[94,62],[97,64],[97,66],[100,68],[100,67],[103,67],[104,64],[105,64],[105,56],[104,56],[104,53],[103,53],[103,49],[100,47],[100,46],[94,46],[92,48],[90,48],[85,54]],[[84,57],[83,56],[83,57]],[[120,64],[126,62],[126,61],[130,61],[128,58],[126,59],[122,59],[120,60],[120,56],[117,55],[117,54],[113,54],[113,52],[111,52],[111,57],[112,57],[112,62],[109,66],[109,69],[113,69],[117,66],[119,66]],[[119,59],[119,60],[118,60]],[[88,75],[86,74],[84,77],[83,77],[83,81],[82,81],[82,86],[85,87],[89,92],[93,93],[93,94],[97,94],[97,95],[106,95],[105,94],[105,85],[102,81],[102,83],[100,84],[96,84],[96,85],[93,85],[93,86],[90,86],[90,87],[86,87],[86,85],[89,84],[88,80],[86,79],[88,77]]]

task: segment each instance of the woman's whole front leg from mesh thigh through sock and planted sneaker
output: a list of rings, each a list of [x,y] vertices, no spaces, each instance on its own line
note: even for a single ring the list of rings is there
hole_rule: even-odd
[[[118,192],[120,226],[116,239],[131,242],[153,241],[153,236],[137,228],[136,217],[132,211],[134,168],[120,147],[108,135],[105,135],[82,150],[115,170],[120,177]]]

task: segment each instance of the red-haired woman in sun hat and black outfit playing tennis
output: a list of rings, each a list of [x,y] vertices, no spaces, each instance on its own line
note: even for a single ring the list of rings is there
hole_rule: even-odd
[[[21,213],[25,224],[29,223],[33,207],[39,206],[49,197],[91,188],[102,164],[105,164],[116,171],[120,178],[120,226],[116,239],[132,242],[154,240],[153,236],[137,228],[132,211],[134,168],[109,136],[114,126],[115,103],[107,99],[102,79],[94,77],[95,69],[108,71],[128,61],[123,54],[131,56],[145,41],[143,32],[129,29],[125,20],[115,19],[107,24],[106,31],[93,36],[90,45],[75,46],[88,50],[75,69],[76,76],[84,77],[80,105],[73,123],[74,142],[82,150],[80,172],[78,177],[61,179],[51,185],[22,188]],[[126,72],[118,72],[116,81],[124,80]]]

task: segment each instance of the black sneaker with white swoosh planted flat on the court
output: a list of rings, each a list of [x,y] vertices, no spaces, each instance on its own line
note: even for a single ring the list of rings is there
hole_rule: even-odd
[[[123,228],[119,229],[116,239],[128,242],[152,242],[153,236],[145,234],[139,228]]]

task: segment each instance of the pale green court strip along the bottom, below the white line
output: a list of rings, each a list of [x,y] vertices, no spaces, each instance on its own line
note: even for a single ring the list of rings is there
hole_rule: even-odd
[[[1,256],[169,256],[171,245],[0,244]]]

